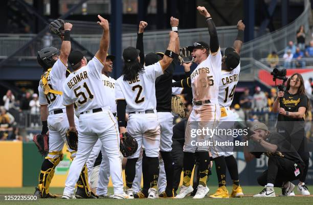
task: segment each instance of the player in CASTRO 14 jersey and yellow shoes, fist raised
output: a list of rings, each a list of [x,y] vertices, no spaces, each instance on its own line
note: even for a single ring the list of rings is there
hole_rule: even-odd
[[[221,80],[219,83],[218,103],[221,109],[220,123],[218,129],[232,129],[236,116],[230,109],[233,102],[235,88],[239,80],[240,73],[240,50],[243,42],[244,24],[240,20],[237,24],[238,36],[233,44],[233,48],[225,50],[225,56],[222,58]],[[218,134],[213,136],[213,143],[233,142],[233,136]],[[217,143],[216,143],[217,144]],[[226,188],[226,166],[233,180],[233,191],[231,197],[242,197],[242,189],[239,186],[238,168],[235,157],[233,156],[233,146],[214,146],[211,148],[212,157],[215,162],[215,168],[218,178],[218,189],[210,195],[212,198],[229,198]]]

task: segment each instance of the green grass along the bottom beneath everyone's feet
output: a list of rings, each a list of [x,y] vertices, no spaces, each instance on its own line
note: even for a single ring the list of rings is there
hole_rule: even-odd
[[[204,198],[204,199],[192,199],[191,197],[187,197],[185,199],[132,199],[132,200],[117,200],[117,199],[76,199],[76,200],[65,200],[61,198],[56,199],[37,199],[36,201],[6,201],[4,200],[5,195],[30,195],[33,194],[34,188],[33,187],[24,187],[24,188],[0,188],[0,204],[41,204],[41,205],[50,205],[50,204],[57,204],[57,205],[88,205],[88,204],[110,204],[110,205],[120,205],[120,204],[138,204],[138,205],[185,205],[185,204],[209,204],[209,205],[244,205],[244,204],[251,204],[251,205],[261,205],[261,204],[268,204],[268,205],[276,205],[276,204],[313,204],[313,197],[273,197],[273,198],[252,198],[251,195],[256,194],[261,191],[262,187],[256,186],[245,186],[242,187],[245,196],[243,198],[229,198],[229,199],[212,199],[212,198]],[[313,191],[313,186],[308,187],[309,190]],[[228,188],[231,191],[231,187]],[[216,187],[210,187],[209,194],[213,194],[216,190]],[[113,192],[112,189],[109,189],[110,193]],[[53,194],[62,194],[63,188],[51,188],[51,193]],[[281,193],[280,189],[275,189],[276,195]],[[295,194],[297,195],[298,192],[295,189]],[[312,196],[312,195],[311,195]]]

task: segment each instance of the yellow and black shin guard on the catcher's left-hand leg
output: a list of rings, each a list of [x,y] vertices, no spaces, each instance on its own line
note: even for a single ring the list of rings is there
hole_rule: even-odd
[[[54,176],[55,167],[63,160],[62,152],[50,152],[49,154],[59,154],[57,157],[51,158],[47,156],[42,163],[39,174],[38,189],[42,198],[46,198],[49,194],[49,186]]]

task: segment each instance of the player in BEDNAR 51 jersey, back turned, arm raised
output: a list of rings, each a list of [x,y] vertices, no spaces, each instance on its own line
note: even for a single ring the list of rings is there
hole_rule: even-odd
[[[128,198],[123,191],[118,125],[110,110],[110,102],[103,92],[104,85],[101,74],[109,46],[109,26],[106,19],[100,15],[98,15],[98,18],[100,21],[97,23],[103,29],[99,50],[88,64],[81,52],[72,52],[69,56],[69,62],[74,72],[66,78],[63,86],[63,104],[66,106],[70,130],[76,130],[74,103],[77,104],[77,110],[80,113],[78,150],[66,178],[62,196],[66,199],[75,198],[75,183],[79,177],[79,172],[98,139],[101,140],[109,158],[110,174],[114,185],[114,198]]]

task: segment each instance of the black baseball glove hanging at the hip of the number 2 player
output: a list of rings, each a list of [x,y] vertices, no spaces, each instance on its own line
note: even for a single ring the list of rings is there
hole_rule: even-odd
[[[120,151],[124,157],[130,156],[137,151],[138,143],[128,132],[121,133],[120,139]]]

